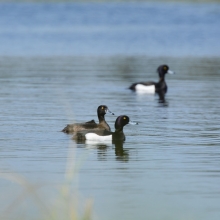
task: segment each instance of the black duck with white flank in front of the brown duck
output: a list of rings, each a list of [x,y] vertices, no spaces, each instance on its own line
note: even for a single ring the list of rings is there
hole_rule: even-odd
[[[119,116],[115,121],[115,131],[107,130],[86,130],[80,131],[74,134],[73,139],[76,140],[94,140],[94,141],[125,141],[125,135],[123,127],[127,124],[138,124],[137,122],[131,122],[127,115]]]

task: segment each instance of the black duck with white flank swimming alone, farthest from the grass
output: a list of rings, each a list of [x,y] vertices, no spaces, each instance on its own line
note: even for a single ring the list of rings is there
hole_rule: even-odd
[[[169,70],[169,66],[160,65],[157,68],[157,72],[159,74],[159,82],[139,82],[133,83],[129,89],[137,92],[137,93],[163,93],[167,92],[167,84],[165,82],[165,75],[167,73],[174,74],[172,70]]]

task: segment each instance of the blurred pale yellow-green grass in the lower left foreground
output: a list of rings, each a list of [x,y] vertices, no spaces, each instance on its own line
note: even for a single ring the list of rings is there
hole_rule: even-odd
[[[82,199],[76,184],[77,174],[85,155],[75,161],[75,146],[73,145],[73,142],[70,142],[62,184],[33,183],[21,174],[5,173],[0,170],[0,180],[10,182],[11,188],[8,187],[8,190],[13,191],[13,193],[6,192],[6,197],[10,197],[10,202],[1,209],[0,219],[92,219],[92,200]],[[14,193],[14,191],[18,192]],[[4,197],[5,195],[2,198]]]

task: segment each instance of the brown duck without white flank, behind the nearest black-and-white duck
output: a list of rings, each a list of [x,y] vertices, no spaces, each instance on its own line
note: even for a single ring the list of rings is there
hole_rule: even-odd
[[[107,130],[107,131],[111,131],[111,128],[109,127],[109,125],[105,121],[105,114],[106,113],[110,113],[110,114],[114,115],[114,113],[112,113],[106,105],[100,105],[97,108],[97,115],[98,115],[98,119],[99,119],[98,124],[94,120],[87,121],[85,123],[68,124],[62,130],[62,132],[64,132],[64,133],[74,133],[74,132],[88,130],[88,129],[89,130]]]

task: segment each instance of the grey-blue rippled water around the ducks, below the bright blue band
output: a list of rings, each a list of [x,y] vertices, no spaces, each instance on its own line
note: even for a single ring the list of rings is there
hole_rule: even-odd
[[[1,57],[0,63],[1,173],[60,184],[69,159],[80,162],[78,190],[94,198],[100,219],[219,219],[219,58]],[[127,89],[156,81],[161,63],[177,73],[166,77],[165,97]],[[124,143],[76,143],[60,132],[67,123],[97,121],[100,104],[139,122],[125,126]],[[106,115],[112,130],[116,116]],[[18,189],[0,185],[2,211]]]

